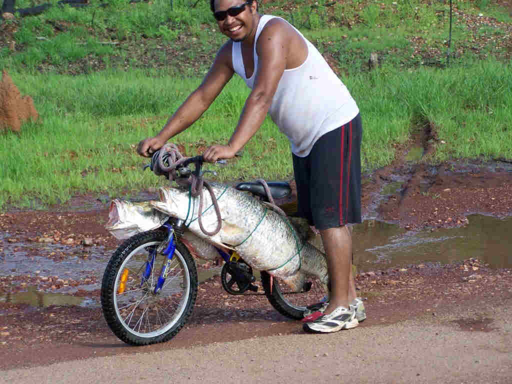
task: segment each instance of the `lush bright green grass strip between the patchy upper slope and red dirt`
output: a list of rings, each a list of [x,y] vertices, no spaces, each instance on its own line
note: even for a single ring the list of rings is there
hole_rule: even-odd
[[[436,157],[512,159],[510,68],[495,60],[447,70],[381,68],[345,79],[364,121],[365,170],[389,164],[394,145],[407,141],[418,119],[437,127]],[[121,191],[163,182],[141,172],[147,160],[135,154],[142,139],[157,133],[168,115],[199,84],[143,71],[91,75],[12,73],[22,94],[30,91],[40,120],[21,134],[0,136],[0,204],[66,201],[73,194]],[[234,78],[210,109],[190,129],[173,139],[187,155],[232,134],[248,90]],[[445,144],[440,144],[443,140]],[[209,166],[217,179],[292,174],[289,144],[267,119],[247,144],[243,157],[226,167]]]

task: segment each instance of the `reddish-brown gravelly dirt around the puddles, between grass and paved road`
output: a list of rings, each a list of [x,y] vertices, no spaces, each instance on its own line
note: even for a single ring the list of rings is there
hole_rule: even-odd
[[[482,212],[507,216],[512,212],[512,172],[492,164],[447,163],[439,167],[407,165],[398,161],[390,167],[365,175],[362,200],[364,212],[371,209],[380,188],[396,178],[403,180],[401,193],[384,198],[377,211],[383,220],[406,228],[465,225],[466,215]],[[422,188],[422,191],[420,190]],[[293,198],[291,199],[293,200]],[[283,201],[281,202],[283,203]],[[119,241],[105,229],[107,203],[98,204],[88,196],[75,197],[66,205],[49,211],[9,211],[0,214],[0,229],[8,235],[0,243],[0,255],[9,239],[28,244],[53,242],[63,246],[80,246],[86,238],[106,253]],[[77,206],[96,206],[86,212],[71,211]],[[72,239],[72,240],[70,240]],[[82,245],[87,253],[87,246]],[[31,252],[37,252],[33,247]],[[6,255],[8,257],[8,255]],[[54,260],[65,255],[54,254]],[[61,259],[59,259],[61,258]],[[1,262],[2,258],[0,258]],[[202,268],[211,267],[211,263]],[[48,276],[47,276],[48,277]],[[78,289],[89,281],[68,281]],[[0,296],[7,292],[36,286],[52,292],[63,286],[59,276],[1,276]],[[497,304],[512,297],[510,269],[489,269],[478,260],[446,266],[417,265],[363,273],[357,276],[360,294],[368,298],[368,319],[361,326],[391,324],[408,317],[450,311],[453,306],[478,307],[480,301]],[[4,293],[2,293],[4,292]],[[92,296],[99,302],[99,292],[79,290],[77,296]],[[276,312],[262,290],[242,296],[228,295],[218,276],[199,287],[197,304],[184,329],[170,342],[131,348],[120,342],[106,326],[99,308],[50,306],[36,308],[24,304],[0,302],[0,370],[19,366],[104,356],[118,353],[150,352],[168,348],[242,340],[254,336],[302,332],[300,322]],[[492,319],[461,318],[452,324],[460,330],[490,331]]]

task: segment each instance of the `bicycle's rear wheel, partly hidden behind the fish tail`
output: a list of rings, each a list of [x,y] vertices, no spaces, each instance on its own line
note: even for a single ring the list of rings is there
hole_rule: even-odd
[[[321,302],[328,293],[320,280],[313,276],[310,276],[305,285],[309,289],[303,289],[300,292],[292,292],[279,278],[273,278],[272,287],[270,287],[270,274],[265,271],[261,272],[261,281],[272,307],[282,315],[297,320],[304,317],[306,306]]]

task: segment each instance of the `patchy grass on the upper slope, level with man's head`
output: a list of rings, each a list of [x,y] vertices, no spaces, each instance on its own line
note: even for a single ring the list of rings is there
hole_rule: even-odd
[[[23,0],[17,2],[16,6],[29,7],[32,3]],[[197,76],[208,68],[209,57],[224,39],[215,32],[217,25],[211,17],[209,3],[204,0],[197,4],[194,2],[195,7],[191,7],[188,0],[155,0],[135,4],[115,0],[106,7],[101,7],[99,0],[93,0],[89,7],[82,9],[58,6],[56,0],[52,0],[52,3],[54,6],[50,10],[38,16],[3,22],[16,25],[13,39],[18,48],[13,54],[7,47],[2,47],[0,67],[75,74],[77,64],[88,67],[88,63],[96,60],[101,69],[124,69],[127,62],[139,68],[174,67],[178,73]],[[371,52],[378,52],[381,58],[393,65],[406,68],[445,61],[444,44],[449,32],[448,4],[430,5],[419,0],[291,0],[260,7],[264,12],[288,19],[319,48],[333,54],[340,66],[349,73],[359,72]],[[481,49],[492,55],[506,54],[502,50],[507,39],[504,30],[499,31],[499,27],[483,23],[474,32],[467,28],[464,17],[458,11],[470,15],[483,13],[484,17],[510,24],[512,20],[508,10],[491,0],[454,1],[454,9],[454,55],[472,48],[473,33],[492,36],[495,32],[502,36],[488,38]],[[411,44],[413,38],[421,38],[422,44],[415,47]],[[323,47],[327,41],[332,44]],[[117,42],[119,45],[101,44],[105,42]],[[177,57],[176,52],[172,52],[165,57],[157,46],[173,47],[186,54]],[[141,59],[148,48],[153,52],[146,53],[146,57]],[[418,49],[422,53],[414,52]],[[192,72],[190,66],[186,65],[191,61],[198,61]],[[90,71],[96,68],[91,65]]]

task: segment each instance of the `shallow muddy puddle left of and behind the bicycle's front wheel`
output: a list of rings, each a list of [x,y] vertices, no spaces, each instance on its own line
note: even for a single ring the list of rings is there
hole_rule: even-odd
[[[0,232],[0,241],[7,238]],[[81,246],[61,244],[38,244],[3,242],[0,252],[0,276],[26,276],[28,283],[17,280],[22,292],[0,294],[0,303],[28,304],[44,308],[57,306],[99,307],[97,297],[83,296],[83,291],[92,292],[101,288],[101,279],[106,264],[114,250],[102,246],[84,249]],[[198,264],[203,261],[197,261]],[[220,275],[221,267],[198,269],[199,282]],[[38,285],[31,285],[36,280]],[[61,281],[57,287],[53,283]],[[50,281],[50,283],[48,283]],[[68,285],[68,281],[78,283]],[[63,283],[63,284],[62,284]],[[75,295],[82,291],[80,296]]]

